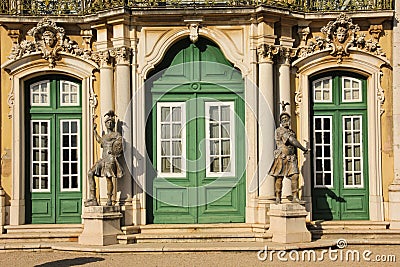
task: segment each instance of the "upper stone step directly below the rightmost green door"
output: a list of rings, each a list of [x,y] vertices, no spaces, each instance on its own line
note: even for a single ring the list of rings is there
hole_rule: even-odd
[[[329,229],[370,229],[384,230],[389,228],[389,222],[373,222],[373,221],[313,221],[307,227],[310,230],[329,230]]]

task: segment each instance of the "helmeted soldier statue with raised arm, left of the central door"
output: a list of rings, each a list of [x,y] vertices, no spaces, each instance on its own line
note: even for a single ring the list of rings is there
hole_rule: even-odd
[[[105,177],[107,179],[107,206],[112,206],[113,178],[123,177],[123,168],[118,162],[118,158],[123,153],[122,135],[115,130],[115,113],[110,110],[105,115],[106,133],[100,137],[97,133],[97,124],[93,124],[93,133],[96,141],[103,148],[101,158],[90,168],[88,172],[89,197],[85,206],[97,206],[96,183],[94,176]]]

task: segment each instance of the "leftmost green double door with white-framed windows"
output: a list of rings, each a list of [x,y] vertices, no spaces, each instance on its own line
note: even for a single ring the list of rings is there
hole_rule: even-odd
[[[47,76],[26,86],[26,223],[80,223],[81,86]]]

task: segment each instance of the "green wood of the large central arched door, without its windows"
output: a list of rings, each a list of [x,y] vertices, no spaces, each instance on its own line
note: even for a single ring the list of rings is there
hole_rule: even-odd
[[[156,72],[165,69],[161,75]],[[244,125],[244,83],[220,49],[200,38],[196,44],[181,40],[167,53],[152,77],[148,95],[152,99],[147,139],[151,151],[147,175],[151,177],[154,223],[244,222],[245,219],[245,144],[244,128],[238,127],[235,177],[206,178],[205,171],[205,102],[233,101],[238,115],[235,123]],[[186,103],[187,175],[185,178],[157,177],[157,112],[158,102]],[[242,157],[241,157],[242,156]],[[214,195],[213,195],[214,194]],[[208,202],[207,198],[215,201]],[[178,201],[181,201],[179,204]],[[171,205],[168,203],[178,203]]]

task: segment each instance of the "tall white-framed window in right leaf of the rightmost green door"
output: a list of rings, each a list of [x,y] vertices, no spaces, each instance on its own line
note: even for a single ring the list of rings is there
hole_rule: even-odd
[[[351,172],[346,172],[345,170],[345,163],[346,163],[346,157],[345,157],[345,145],[349,144],[349,143],[345,143],[345,134],[346,131],[344,129],[344,123],[345,123],[345,119],[346,118],[352,118],[352,127],[353,127],[353,119],[354,118],[358,118],[360,119],[360,162],[361,162],[361,184],[360,185],[346,185],[346,173],[352,173],[353,174],[353,183],[354,183],[354,161],[352,162],[353,166],[352,166],[352,171]],[[364,149],[363,149],[363,124],[362,124],[362,119],[363,116],[362,115],[344,115],[342,116],[342,149],[343,149],[343,187],[344,188],[364,188]],[[354,129],[352,129],[351,131],[353,132]],[[351,143],[354,144],[354,143]],[[353,152],[353,151],[352,151]],[[351,158],[355,158],[354,156]]]

